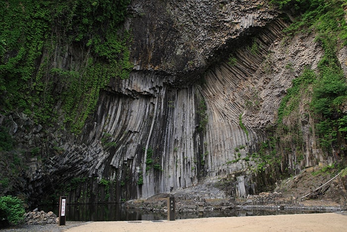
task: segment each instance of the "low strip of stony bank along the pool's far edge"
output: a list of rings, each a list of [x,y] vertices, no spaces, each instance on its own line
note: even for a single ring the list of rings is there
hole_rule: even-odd
[[[125,203],[127,208],[143,211],[166,212],[167,198],[175,198],[175,210],[178,213],[197,213],[220,211],[227,213],[236,209],[279,209],[279,210],[315,210],[338,212],[341,205],[328,200],[298,201],[294,196],[286,196],[281,192],[263,192],[248,195],[245,198],[189,198],[187,195],[159,194],[147,200],[130,200]]]

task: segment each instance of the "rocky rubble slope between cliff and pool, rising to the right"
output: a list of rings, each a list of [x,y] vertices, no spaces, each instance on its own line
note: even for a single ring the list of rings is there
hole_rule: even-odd
[[[131,200],[126,202],[125,205],[129,208],[145,211],[163,212],[167,210],[167,198],[174,197],[175,209],[178,213],[197,213],[199,211],[221,211],[226,213],[236,208],[347,210],[346,175],[335,179],[325,188],[302,198],[335,175],[331,172],[322,171],[322,169],[322,167],[306,168],[300,174],[276,183],[277,186],[274,192],[262,192],[244,198],[234,198],[228,195],[228,191],[220,188],[220,184],[207,180],[203,184],[178,190],[172,194],[158,194],[146,200]]]

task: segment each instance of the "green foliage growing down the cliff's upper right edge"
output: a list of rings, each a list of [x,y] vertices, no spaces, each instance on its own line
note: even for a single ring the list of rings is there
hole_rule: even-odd
[[[312,87],[310,110],[316,121],[316,132],[323,148],[339,149],[347,137],[347,116],[343,111],[347,104],[347,83],[337,57],[338,48],[347,45],[347,24],[344,9],[346,0],[273,0],[281,9],[295,9],[298,18],[286,30],[288,35],[296,33],[316,34],[324,55],[318,64],[318,75],[312,71],[293,80],[293,86],[283,98],[279,109],[279,123],[298,107],[299,92]],[[310,74],[310,75],[307,75]],[[309,78],[307,78],[309,77]],[[301,89],[301,90],[300,90]],[[295,103],[296,102],[296,103]],[[296,104],[296,106],[295,106]]]

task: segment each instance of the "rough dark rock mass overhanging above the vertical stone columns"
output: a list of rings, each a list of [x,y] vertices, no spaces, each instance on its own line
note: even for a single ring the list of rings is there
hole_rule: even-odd
[[[204,70],[230,40],[250,35],[278,14],[260,0],[133,1],[131,12],[135,68],[172,74]]]

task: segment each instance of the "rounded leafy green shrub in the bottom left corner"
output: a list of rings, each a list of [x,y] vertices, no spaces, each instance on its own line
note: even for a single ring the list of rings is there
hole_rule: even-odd
[[[0,219],[7,220],[10,224],[18,224],[24,219],[25,210],[23,201],[18,197],[0,197]]]

